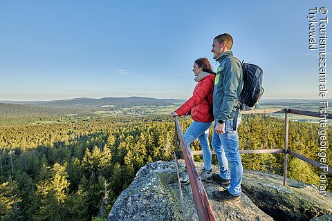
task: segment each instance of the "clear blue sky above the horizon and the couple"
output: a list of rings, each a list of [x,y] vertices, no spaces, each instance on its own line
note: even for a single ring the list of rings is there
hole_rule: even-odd
[[[212,39],[224,32],[234,39],[234,56],[263,68],[263,98],[320,99],[307,16],[322,6],[330,18],[329,0],[3,0],[0,100],[187,99],[194,60],[207,57],[216,70]],[[326,48],[329,78],[331,39]]]

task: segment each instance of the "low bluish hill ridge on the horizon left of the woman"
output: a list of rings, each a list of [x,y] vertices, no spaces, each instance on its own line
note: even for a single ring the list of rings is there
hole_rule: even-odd
[[[181,104],[184,100],[181,99],[156,99],[149,97],[104,97],[100,99],[95,98],[75,98],[63,99],[53,101],[34,101],[34,102],[17,102],[17,101],[0,101],[6,104],[25,104],[44,107],[55,108],[88,108],[100,109],[102,106],[111,107],[131,107],[131,106],[167,106],[172,104]]]

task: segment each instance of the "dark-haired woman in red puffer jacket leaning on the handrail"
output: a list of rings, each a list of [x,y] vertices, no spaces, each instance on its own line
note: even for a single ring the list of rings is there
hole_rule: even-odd
[[[204,168],[199,173],[201,180],[212,182],[211,164],[212,155],[209,144],[209,128],[214,121],[212,111],[212,95],[214,88],[215,73],[212,71],[210,61],[206,58],[200,58],[194,61],[195,74],[194,80],[197,82],[192,97],[185,102],[171,115],[182,116],[191,111],[194,122],[189,126],[185,132],[185,142],[190,144],[199,138],[199,143],[202,146]],[[192,153],[191,153],[192,155]],[[181,177],[182,184],[189,184],[189,176],[187,173]]]

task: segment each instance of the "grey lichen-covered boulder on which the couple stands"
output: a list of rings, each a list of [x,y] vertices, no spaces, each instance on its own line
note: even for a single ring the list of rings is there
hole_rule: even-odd
[[[201,168],[200,164],[196,166]],[[183,173],[183,160],[179,161],[179,169]],[[212,199],[212,191],[223,189],[221,186],[204,182],[204,187],[216,220],[273,220],[245,194],[239,204],[221,203]],[[190,185],[183,186],[182,190],[187,220],[198,220]],[[116,200],[108,220],[183,220],[174,161],[143,166]]]

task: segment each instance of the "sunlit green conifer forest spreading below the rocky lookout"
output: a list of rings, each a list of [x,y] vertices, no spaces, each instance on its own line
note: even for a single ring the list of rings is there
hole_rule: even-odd
[[[283,119],[242,118],[241,149],[284,148]],[[180,121],[185,131],[192,119]],[[291,121],[288,148],[319,161],[318,127]],[[331,140],[331,133],[328,136]],[[200,150],[198,140],[191,147]],[[1,124],[0,220],[106,220],[140,167],[174,160],[173,153],[174,119],[166,115]],[[241,158],[246,169],[283,174],[284,154],[242,154]],[[203,162],[200,155],[194,160]],[[326,160],[332,166],[331,159]],[[215,155],[212,162],[218,164]],[[288,155],[288,177],[319,184],[319,175],[320,169]],[[331,175],[328,179],[331,183]]]

